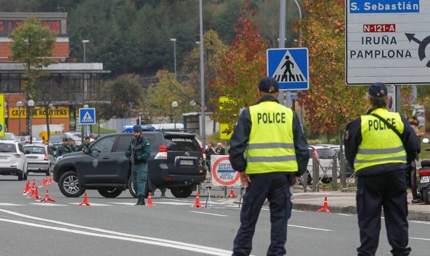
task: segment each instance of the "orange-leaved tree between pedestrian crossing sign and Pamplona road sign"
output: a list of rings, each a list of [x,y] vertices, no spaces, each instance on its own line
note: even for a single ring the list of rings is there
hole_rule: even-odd
[[[368,87],[345,84],[345,1],[307,0],[302,28],[309,49],[310,88],[299,94],[313,132],[339,134],[346,124],[366,111]]]

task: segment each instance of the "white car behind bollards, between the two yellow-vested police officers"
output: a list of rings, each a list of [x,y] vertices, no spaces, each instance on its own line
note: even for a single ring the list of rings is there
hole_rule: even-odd
[[[323,183],[330,183],[332,181],[333,172],[332,172],[332,164],[333,164],[333,157],[336,156],[336,153],[327,146],[319,146],[319,145],[310,145],[308,147],[309,150],[309,161],[308,161],[308,167],[307,167],[307,174],[308,174],[308,185],[312,184],[312,162],[313,158],[317,158],[318,161],[318,168],[319,168],[319,178],[322,177]],[[340,165],[337,161],[337,170],[339,174]],[[324,170],[326,170],[326,177],[324,176]]]

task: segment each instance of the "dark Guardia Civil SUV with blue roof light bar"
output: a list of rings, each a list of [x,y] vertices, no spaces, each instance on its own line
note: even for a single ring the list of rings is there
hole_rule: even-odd
[[[175,197],[190,196],[206,178],[205,154],[196,136],[178,131],[143,132],[143,136],[152,142],[145,195],[169,188]],[[83,152],[61,156],[53,171],[61,193],[79,197],[85,189],[97,189],[103,197],[114,198],[128,188],[136,197],[124,155],[132,139],[132,133],[109,134],[85,146]]]

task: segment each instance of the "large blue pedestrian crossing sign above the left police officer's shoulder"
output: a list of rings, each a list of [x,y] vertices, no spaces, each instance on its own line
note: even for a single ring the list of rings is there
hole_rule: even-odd
[[[308,90],[308,48],[267,49],[267,75],[281,90]]]

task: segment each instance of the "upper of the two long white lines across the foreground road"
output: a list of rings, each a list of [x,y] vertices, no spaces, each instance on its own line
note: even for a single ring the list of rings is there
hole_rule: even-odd
[[[106,229],[101,229],[101,228],[87,227],[87,226],[75,225],[75,224],[61,222],[61,221],[54,221],[54,220],[49,220],[49,219],[43,219],[43,218],[38,218],[38,217],[29,216],[29,215],[25,215],[25,214],[20,214],[19,212],[5,210],[5,209],[0,209],[0,211],[6,212],[7,214],[10,214],[10,215],[24,217],[24,218],[28,218],[28,219],[32,219],[32,220],[46,221],[46,222],[55,223],[55,224],[59,224],[59,225],[63,225],[63,226],[70,226],[70,227],[76,227],[76,228],[81,228],[81,229],[88,229],[88,230],[92,230],[92,231],[98,231],[98,232],[116,234],[118,236],[131,237],[131,238],[139,238],[139,239],[146,239],[146,240],[152,240],[152,241],[157,241],[157,242],[164,242],[164,243],[174,244],[176,246],[178,246],[178,245],[179,246],[188,246],[188,247],[193,247],[193,248],[199,248],[199,249],[204,249],[204,250],[210,250],[210,251],[214,251],[214,252],[224,253],[222,255],[231,255],[231,253],[232,253],[232,251],[223,250],[223,249],[219,249],[219,248],[208,247],[208,246],[201,246],[201,245],[196,245],[196,244],[177,242],[177,241],[167,240],[167,239],[159,239],[159,238],[152,238],[152,237],[137,236],[135,234],[127,234],[127,233],[116,232],[116,231],[111,231],[111,230],[106,230]]]

